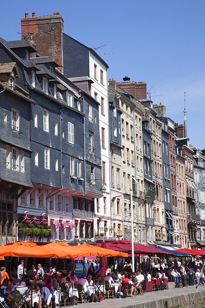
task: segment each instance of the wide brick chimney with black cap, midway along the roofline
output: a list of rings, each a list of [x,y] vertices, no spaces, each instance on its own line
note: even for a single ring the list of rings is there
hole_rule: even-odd
[[[147,84],[145,81],[117,82],[117,85],[137,99],[147,99]]]

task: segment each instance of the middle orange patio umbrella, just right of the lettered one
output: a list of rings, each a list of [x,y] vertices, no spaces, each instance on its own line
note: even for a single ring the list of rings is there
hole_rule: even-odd
[[[44,246],[49,247],[49,249],[51,248],[56,250],[59,249],[59,250],[64,250],[68,253],[76,253],[78,254],[79,257],[95,257],[95,256],[103,257],[103,252],[99,251],[98,249],[95,249],[95,246],[91,245],[88,245],[89,247],[80,248],[80,246],[82,245],[71,246],[65,242],[54,242]]]

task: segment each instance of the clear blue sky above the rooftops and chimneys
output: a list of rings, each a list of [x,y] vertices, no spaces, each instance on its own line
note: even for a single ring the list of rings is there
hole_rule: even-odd
[[[97,52],[110,66],[108,78],[146,81],[153,103],[183,123],[184,89],[191,144],[204,142],[204,0],[112,0],[1,3],[0,36],[21,39],[21,18],[60,12],[64,32]],[[8,23],[9,21],[9,23]],[[113,54],[112,54],[113,53]]]

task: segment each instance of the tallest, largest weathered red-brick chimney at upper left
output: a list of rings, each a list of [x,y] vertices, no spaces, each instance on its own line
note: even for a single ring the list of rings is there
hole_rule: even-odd
[[[32,13],[32,18],[28,18],[26,13],[25,18],[21,19],[22,39],[32,40],[36,44],[39,55],[41,57],[49,56],[61,66],[58,67],[60,71],[63,71],[63,23],[60,13],[39,17],[35,17],[35,13]],[[31,57],[35,56],[35,54],[31,54]]]

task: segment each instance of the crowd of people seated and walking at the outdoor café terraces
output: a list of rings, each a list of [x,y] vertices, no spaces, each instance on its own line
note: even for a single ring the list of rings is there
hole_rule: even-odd
[[[126,282],[133,283],[137,290],[140,283],[142,283],[143,290],[146,290],[146,282],[153,282],[155,290],[164,289],[165,282],[175,282],[176,287],[186,287],[186,275],[193,274],[195,282],[205,284],[204,272],[202,270],[203,261],[200,259],[193,259],[187,261],[184,260],[167,261],[163,258],[163,261],[158,262],[147,258],[139,264],[136,262],[134,268],[132,262],[127,260],[125,262],[119,262],[116,260],[114,264],[110,264],[107,267],[105,276],[102,277],[99,274],[99,263],[92,260],[88,267],[87,276],[80,275],[75,276],[75,271],[64,270],[60,275],[55,275],[55,266],[47,268],[45,265],[37,265],[37,269],[34,265],[27,271],[24,267],[24,261],[21,260],[17,269],[14,267],[10,275],[6,272],[6,267],[1,268],[1,286],[0,292],[8,300],[12,300],[14,291],[17,289],[25,297],[25,301],[31,303],[31,294],[38,294],[39,296],[39,308],[41,308],[41,294],[42,288],[48,288],[52,293],[59,288],[66,292],[71,285],[77,287],[79,284],[83,286],[83,301],[93,301],[94,295],[90,296],[88,291],[89,286],[103,285],[105,282],[109,282],[110,289],[113,292],[113,297],[127,296],[127,290],[125,288]],[[24,274],[23,274],[24,271]],[[24,280],[22,279],[24,276]],[[103,279],[104,278],[104,279]],[[157,283],[157,281],[159,283]],[[116,284],[118,284],[119,291],[116,292]],[[30,291],[28,292],[28,288]],[[98,291],[99,292],[99,291]],[[100,293],[100,292],[99,292]],[[131,289],[131,296],[133,295],[133,288]],[[99,295],[99,294],[98,294]],[[1,296],[1,295],[0,295]],[[95,297],[95,299],[98,296]],[[57,307],[55,303],[55,296],[52,294],[53,305]]]

